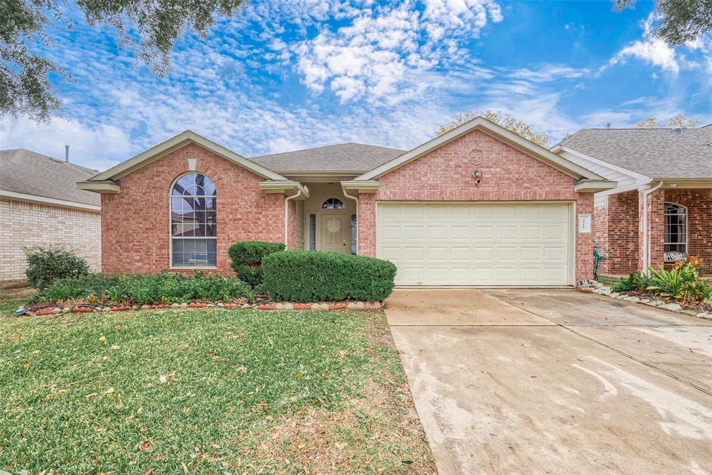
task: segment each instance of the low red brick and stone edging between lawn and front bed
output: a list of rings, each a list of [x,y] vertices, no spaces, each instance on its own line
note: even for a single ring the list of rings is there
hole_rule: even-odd
[[[229,308],[230,310],[375,310],[384,307],[384,302],[375,301],[352,301],[352,302],[320,302],[320,303],[262,303],[255,305],[253,303],[161,303],[158,305],[142,305],[142,306],[113,306],[102,307],[93,305],[80,305],[73,307],[48,306],[36,310],[35,312],[26,312],[23,315],[50,315],[51,313],[89,313],[98,312],[126,312],[130,310],[157,310],[163,308]]]

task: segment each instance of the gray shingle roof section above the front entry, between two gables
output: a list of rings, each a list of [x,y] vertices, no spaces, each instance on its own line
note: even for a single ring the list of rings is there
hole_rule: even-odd
[[[274,155],[261,155],[252,157],[250,160],[275,171],[354,170],[367,172],[394,159],[403,152],[404,150],[394,148],[349,142]]]

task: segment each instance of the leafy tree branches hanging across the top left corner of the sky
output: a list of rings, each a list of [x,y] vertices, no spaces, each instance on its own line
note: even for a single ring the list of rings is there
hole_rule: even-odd
[[[216,17],[234,16],[247,0],[77,0],[92,27],[112,26],[120,46],[158,75],[170,71],[175,41],[187,31],[206,37]],[[0,116],[28,115],[47,121],[61,104],[50,75],[70,76],[38,51],[52,46],[51,22],[71,27],[67,3],[59,0],[0,2]]]

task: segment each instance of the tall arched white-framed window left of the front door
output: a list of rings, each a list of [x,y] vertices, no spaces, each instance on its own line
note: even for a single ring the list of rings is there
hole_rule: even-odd
[[[215,185],[200,173],[184,174],[171,189],[171,267],[217,266]]]

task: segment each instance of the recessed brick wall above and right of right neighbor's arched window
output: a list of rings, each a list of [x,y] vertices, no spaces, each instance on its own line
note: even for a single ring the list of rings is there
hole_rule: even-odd
[[[687,254],[712,261],[712,189],[666,189],[665,202],[687,208]]]

